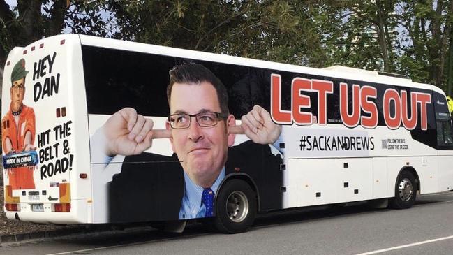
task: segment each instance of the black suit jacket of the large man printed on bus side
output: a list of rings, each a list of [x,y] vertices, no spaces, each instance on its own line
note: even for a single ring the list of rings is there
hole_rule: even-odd
[[[228,149],[225,177],[244,173],[258,188],[260,210],[281,209],[281,157],[250,140]],[[110,222],[162,221],[179,217],[184,173],[176,154],[126,156],[109,184]]]

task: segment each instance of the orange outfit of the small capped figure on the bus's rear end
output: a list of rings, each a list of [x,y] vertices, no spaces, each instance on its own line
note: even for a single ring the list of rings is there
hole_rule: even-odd
[[[3,150],[6,149],[6,138],[9,138],[13,145],[12,150],[22,152],[24,150],[24,138],[27,131],[31,132],[31,144],[35,139],[35,112],[33,108],[22,104],[22,112],[19,115],[19,123],[16,124],[14,115],[10,110],[1,119],[1,133]],[[8,170],[9,185],[13,189],[34,189],[33,167],[24,166],[10,168]]]

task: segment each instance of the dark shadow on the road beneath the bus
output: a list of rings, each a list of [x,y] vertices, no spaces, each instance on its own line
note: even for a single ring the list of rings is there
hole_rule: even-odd
[[[420,196],[417,198],[415,206],[428,205],[432,203],[443,203],[452,201],[453,193],[430,196]],[[364,202],[339,204],[339,205],[323,205],[316,207],[304,207],[302,209],[285,210],[278,212],[269,212],[267,214],[258,215],[253,228],[268,228],[281,224],[293,224],[295,222],[304,223],[309,221],[319,221],[332,217],[353,217],[357,214],[372,214],[388,211],[389,209],[372,209]],[[177,239],[177,238],[195,238],[200,235],[209,235],[213,232],[209,228],[205,228],[202,224],[193,221],[189,222],[184,233],[165,233],[158,231],[151,226],[126,226],[124,229],[119,228],[114,231],[91,232],[87,230],[83,235],[71,235],[61,238],[55,238],[52,242],[70,243],[73,245],[83,245],[83,247],[107,247],[117,245],[128,245],[140,242],[159,242],[162,240]],[[214,233],[216,234],[216,233]],[[89,249],[89,248],[88,248]]]

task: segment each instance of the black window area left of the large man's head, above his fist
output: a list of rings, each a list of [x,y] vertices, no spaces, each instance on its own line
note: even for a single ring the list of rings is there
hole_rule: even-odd
[[[169,115],[166,91],[174,57],[93,46],[83,46],[82,52],[90,114],[134,105],[142,115]]]

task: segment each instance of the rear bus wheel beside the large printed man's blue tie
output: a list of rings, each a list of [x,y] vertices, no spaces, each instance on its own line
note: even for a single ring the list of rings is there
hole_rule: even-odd
[[[218,191],[214,226],[223,233],[241,233],[253,224],[256,196],[243,180],[229,180]]]

